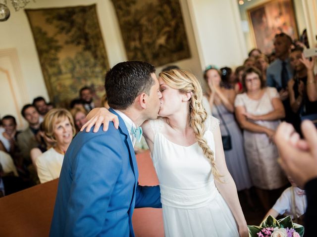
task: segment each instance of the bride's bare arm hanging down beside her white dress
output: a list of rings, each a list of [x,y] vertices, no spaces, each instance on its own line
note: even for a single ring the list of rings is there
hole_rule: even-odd
[[[215,143],[215,163],[220,175],[223,176],[223,177],[220,177],[223,183],[218,182],[216,179],[214,180],[214,183],[217,189],[219,190],[220,194],[222,195],[222,197],[228,204],[234,216],[234,219],[236,220],[240,237],[248,237],[249,231],[247,227],[247,222],[244,218],[242,208],[239,202],[237,188],[228,171],[228,168],[225,162],[219,126],[217,126],[214,129],[213,136],[214,136],[214,143]]]

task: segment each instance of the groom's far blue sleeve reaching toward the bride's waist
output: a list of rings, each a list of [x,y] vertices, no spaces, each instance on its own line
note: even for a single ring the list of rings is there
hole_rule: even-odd
[[[140,186],[138,184],[135,197],[135,208],[154,207],[161,208],[160,189],[157,186]]]

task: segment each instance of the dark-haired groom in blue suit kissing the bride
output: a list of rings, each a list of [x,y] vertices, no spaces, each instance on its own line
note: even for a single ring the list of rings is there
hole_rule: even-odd
[[[138,185],[133,150],[142,134],[138,126],[159,113],[155,68],[118,63],[107,72],[105,88],[119,129],[110,123],[106,132],[80,132],[73,139],[60,172],[51,237],[134,237],[134,208],[161,207],[159,186]]]

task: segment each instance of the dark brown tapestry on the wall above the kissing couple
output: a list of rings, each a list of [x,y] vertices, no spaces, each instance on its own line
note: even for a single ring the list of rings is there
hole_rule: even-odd
[[[161,66],[190,58],[179,0],[112,0],[128,60]]]

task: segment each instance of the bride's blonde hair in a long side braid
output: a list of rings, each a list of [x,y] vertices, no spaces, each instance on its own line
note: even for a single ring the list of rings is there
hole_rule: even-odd
[[[206,139],[203,137],[207,112],[202,105],[203,91],[198,79],[196,79],[193,74],[183,70],[161,72],[159,77],[161,77],[168,86],[178,89],[181,93],[193,93],[189,104],[190,126],[194,130],[199,146],[203,149],[203,154],[211,162],[213,176],[216,180],[220,181],[219,178],[222,176],[219,174],[215,165],[214,154],[208,146]]]

